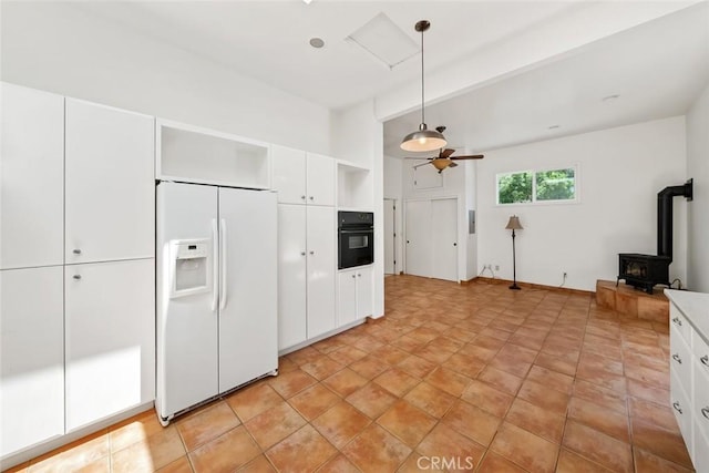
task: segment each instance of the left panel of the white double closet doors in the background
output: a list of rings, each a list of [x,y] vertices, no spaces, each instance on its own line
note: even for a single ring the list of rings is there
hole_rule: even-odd
[[[407,202],[407,261],[405,273],[431,277],[431,200]]]

